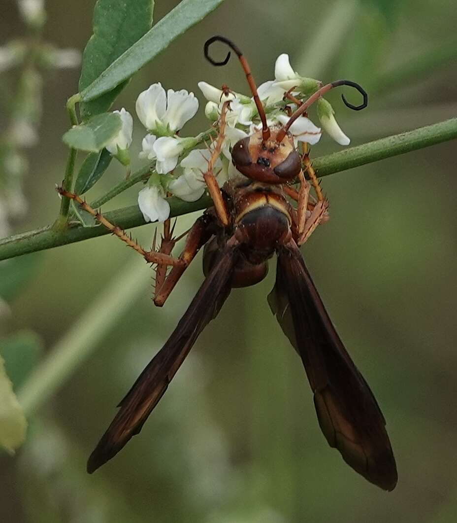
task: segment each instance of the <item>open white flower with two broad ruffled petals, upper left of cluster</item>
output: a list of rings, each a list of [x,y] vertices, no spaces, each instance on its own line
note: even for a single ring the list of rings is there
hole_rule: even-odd
[[[168,95],[160,83],[151,85],[136,100],[138,118],[154,134],[167,136],[179,131],[195,116],[198,99],[185,89],[168,89]]]

